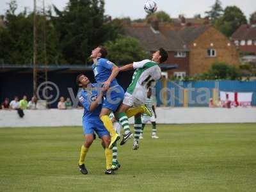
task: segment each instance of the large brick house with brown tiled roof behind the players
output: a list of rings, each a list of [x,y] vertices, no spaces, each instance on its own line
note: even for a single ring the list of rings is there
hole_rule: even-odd
[[[159,47],[168,51],[166,63],[176,63],[178,68],[170,76],[183,78],[207,72],[212,63],[223,61],[239,65],[236,46],[209,24],[173,28],[173,24],[132,23],[125,26],[125,35],[137,38],[145,51],[154,52]]]

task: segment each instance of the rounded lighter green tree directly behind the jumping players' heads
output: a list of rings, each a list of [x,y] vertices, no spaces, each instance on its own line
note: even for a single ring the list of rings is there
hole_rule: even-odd
[[[115,41],[106,42],[105,47],[108,49],[108,59],[116,65],[124,65],[149,57],[138,40],[130,36],[118,36]]]

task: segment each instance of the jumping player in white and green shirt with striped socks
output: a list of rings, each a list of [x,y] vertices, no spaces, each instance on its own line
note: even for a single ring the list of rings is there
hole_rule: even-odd
[[[160,48],[158,51],[152,54],[152,60],[143,60],[139,62],[134,62],[124,67],[120,68],[120,71],[127,71],[135,69],[132,76],[132,82],[127,88],[124,96],[123,103],[120,108],[118,108],[116,118],[122,124],[124,128],[124,138],[120,145],[132,138],[132,133],[130,131],[127,115],[125,111],[129,108],[141,106],[145,104],[147,99],[148,88],[154,88],[156,81],[161,78],[161,68],[158,66],[159,63],[163,63],[168,58],[168,53]],[[133,149],[137,150],[139,148],[139,139],[141,132],[141,114],[134,116],[134,142]]]

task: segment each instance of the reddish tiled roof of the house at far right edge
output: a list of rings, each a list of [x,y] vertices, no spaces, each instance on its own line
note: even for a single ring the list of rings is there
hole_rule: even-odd
[[[232,35],[233,40],[256,40],[256,26],[241,25]]]

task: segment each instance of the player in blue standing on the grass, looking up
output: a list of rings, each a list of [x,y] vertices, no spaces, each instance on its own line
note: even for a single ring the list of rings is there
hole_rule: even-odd
[[[99,118],[100,111],[102,108],[102,88],[97,84],[90,83],[88,77],[80,74],[77,76],[77,84],[83,87],[83,90],[78,94],[79,101],[83,104],[84,115],[83,115],[83,131],[85,142],[81,147],[81,154],[79,158],[79,170],[83,174],[87,174],[88,171],[84,166],[84,159],[86,154],[93,143],[93,134],[96,132],[99,138],[102,139],[102,146],[105,150],[106,157],[106,171],[105,174],[114,174],[111,170],[112,166],[112,150],[108,148],[110,143],[110,136],[108,130],[102,124]]]

